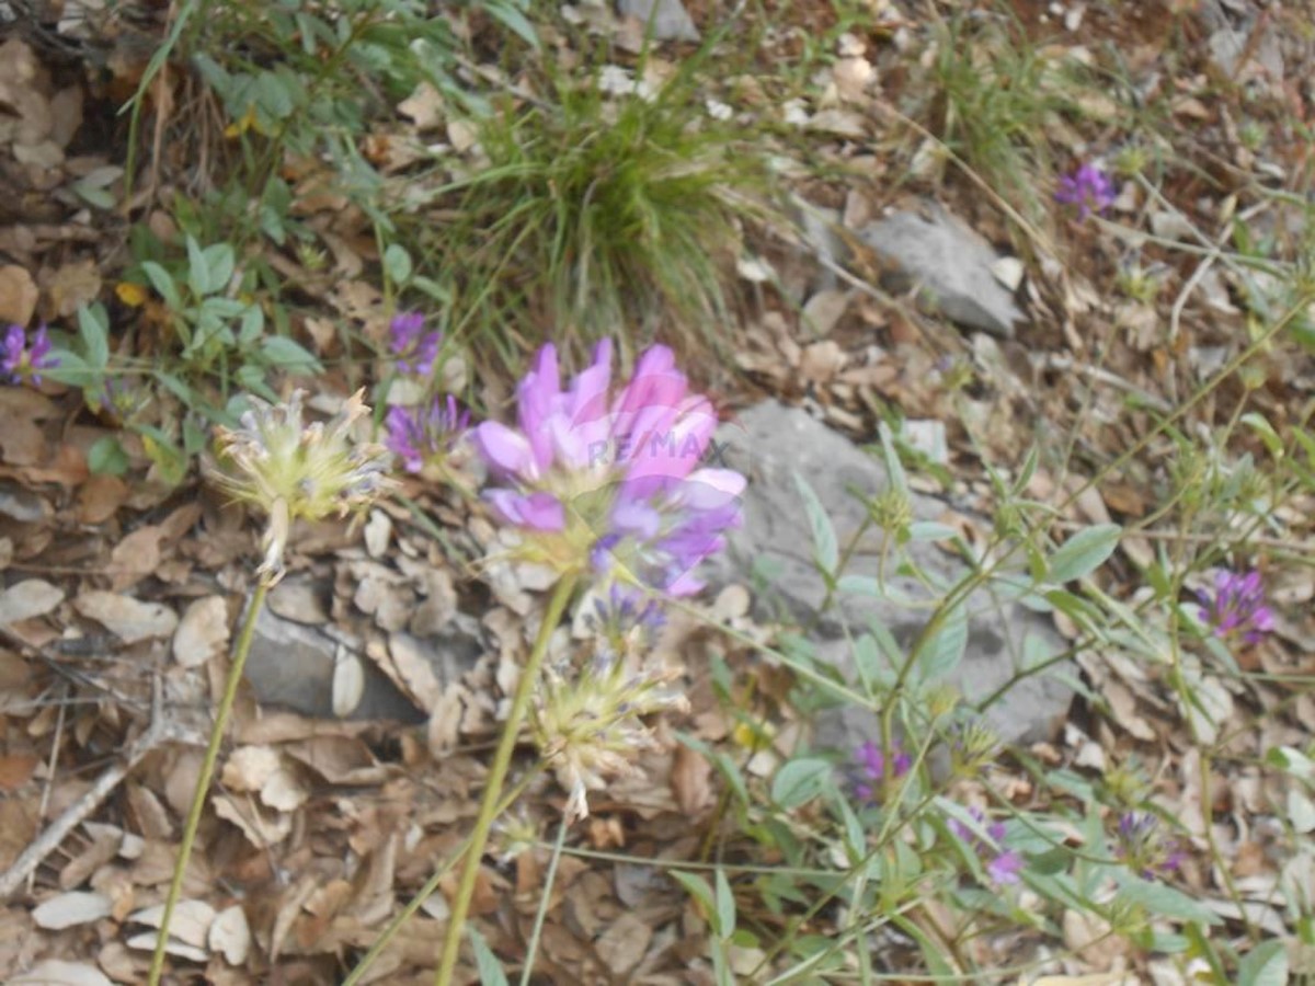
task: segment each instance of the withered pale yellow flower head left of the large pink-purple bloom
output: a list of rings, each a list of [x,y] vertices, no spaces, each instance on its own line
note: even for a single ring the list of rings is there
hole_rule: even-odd
[[[216,427],[220,465],[210,479],[234,500],[268,517],[262,577],[283,575],[283,550],[297,519],[322,521],[362,510],[392,489],[383,446],[356,442],[352,425],[368,417],[363,390],[329,422],[302,423],[302,392],[283,404],[249,398],[239,427]]]

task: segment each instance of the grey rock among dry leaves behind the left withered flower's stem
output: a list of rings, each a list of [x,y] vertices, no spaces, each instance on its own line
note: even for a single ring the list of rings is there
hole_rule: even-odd
[[[268,607],[255,621],[246,676],[262,705],[279,705],[320,718],[334,718],[333,672],[339,640],[317,627],[276,617]],[[405,723],[425,720],[370,659],[358,655],[364,667],[366,689],[351,719],[396,719]]]

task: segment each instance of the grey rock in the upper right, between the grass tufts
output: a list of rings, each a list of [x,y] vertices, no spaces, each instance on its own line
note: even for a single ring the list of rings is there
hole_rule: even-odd
[[[898,267],[907,287],[919,285],[947,318],[1006,339],[1014,337],[1014,322],[1023,313],[992,273],[999,256],[942,206],[928,205],[926,216],[897,212],[869,223],[860,238]]]

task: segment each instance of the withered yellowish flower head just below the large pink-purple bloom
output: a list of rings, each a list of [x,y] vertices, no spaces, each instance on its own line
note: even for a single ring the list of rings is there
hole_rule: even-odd
[[[671,677],[636,670],[633,661],[610,652],[597,653],[579,672],[544,669],[530,732],[568,793],[568,822],[589,814],[589,791],[633,774],[635,756],[658,747],[644,716],[688,711],[685,697],[667,688]]]

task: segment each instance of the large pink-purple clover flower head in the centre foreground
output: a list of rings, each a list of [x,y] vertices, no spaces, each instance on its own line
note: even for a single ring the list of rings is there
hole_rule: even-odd
[[[698,592],[693,569],[739,525],[744,477],[702,464],[717,414],[672,351],[646,351],[613,393],[609,339],[565,389],[544,346],[517,404],[518,429],[485,422],[471,436],[505,484],[485,497],[521,528],[521,553],[559,575]]]

